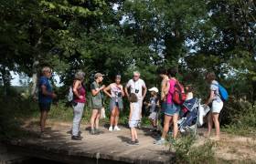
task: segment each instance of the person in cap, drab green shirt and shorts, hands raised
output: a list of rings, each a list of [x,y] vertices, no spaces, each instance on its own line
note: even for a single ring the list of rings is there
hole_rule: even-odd
[[[96,73],[94,75],[94,82],[91,83],[91,134],[99,133],[99,120],[101,117],[101,108],[103,107],[103,89],[105,85],[101,86],[104,75]]]

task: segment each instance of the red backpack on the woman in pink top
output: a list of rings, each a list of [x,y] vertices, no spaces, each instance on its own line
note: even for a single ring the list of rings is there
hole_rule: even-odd
[[[184,87],[178,81],[176,81],[173,102],[177,105],[182,105],[186,100],[186,97],[187,95],[184,91]]]

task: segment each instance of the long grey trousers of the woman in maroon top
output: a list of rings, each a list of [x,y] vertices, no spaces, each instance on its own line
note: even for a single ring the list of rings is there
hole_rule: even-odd
[[[73,118],[72,136],[79,136],[80,120],[82,117],[83,108],[84,108],[84,103],[78,103],[76,106],[73,106],[74,118]]]

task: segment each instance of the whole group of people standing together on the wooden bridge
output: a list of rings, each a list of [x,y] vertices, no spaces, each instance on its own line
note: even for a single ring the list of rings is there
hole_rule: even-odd
[[[45,134],[46,119],[48,117],[48,111],[50,110],[52,99],[57,97],[53,92],[49,82],[51,77],[50,67],[43,67],[42,77],[39,79],[39,92],[38,101],[41,111],[40,115],[40,132],[41,135]],[[103,94],[110,97],[110,127],[109,131],[121,130],[118,127],[118,119],[120,111],[123,109],[123,97],[127,97],[130,102],[130,115],[129,115],[129,128],[131,128],[131,141],[130,145],[138,145],[138,135],[136,128],[140,124],[142,118],[143,105],[150,108],[149,119],[151,120],[154,129],[157,127],[158,111],[162,111],[165,115],[164,127],[162,130],[162,136],[159,140],[155,141],[155,144],[162,145],[165,143],[166,135],[168,134],[170,126],[173,126],[173,138],[177,137],[178,124],[177,120],[179,115],[182,115],[182,105],[176,104],[173,101],[173,94],[175,92],[177,80],[177,68],[172,67],[170,69],[159,68],[158,75],[162,78],[160,95],[158,96],[158,88],[152,87],[148,89],[150,91],[150,99],[145,100],[147,93],[147,87],[144,80],[141,79],[141,75],[138,71],[133,72],[133,78],[128,81],[125,87],[121,83],[121,75],[116,75],[114,82],[105,87],[102,85],[104,75],[96,73],[94,75],[94,81],[91,83],[91,135],[99,134],[99,120],[101,118],[101,108],[103,108]],[[71,129],[71,139],[81,140],[80,136],[80,121],[83,114],[83,108],[87,101],[86,88],[83,85],[85,74],[82,71],[78,71],[74,77],[73,84],[71,86],[73,92],[72,107],[73,107],[73,123]],[[205,102],[205,106],[211,105],[211,112],[208,114],[208,133],[207,137],[210,137],[211,129],[214,123],[216,128],[216,139],[219,139],[219,112],[223,108],[223,101],[219,95],[218,81],[213,72],[209,72],[206,75],[206,80],[209,84],[209,97]],[[191,91],[191,85],[186,87],[187,99],[193,97]]]

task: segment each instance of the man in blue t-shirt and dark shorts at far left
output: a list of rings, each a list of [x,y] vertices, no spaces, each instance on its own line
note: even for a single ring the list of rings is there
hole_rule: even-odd
[[[40,137],[49,137],[45,134],[46,120],[53,98],[57,95],[53,92],[49,78],[52,76],[50,67],[42,68],[42,77],[38,84],[38,105],[40,108]]]

